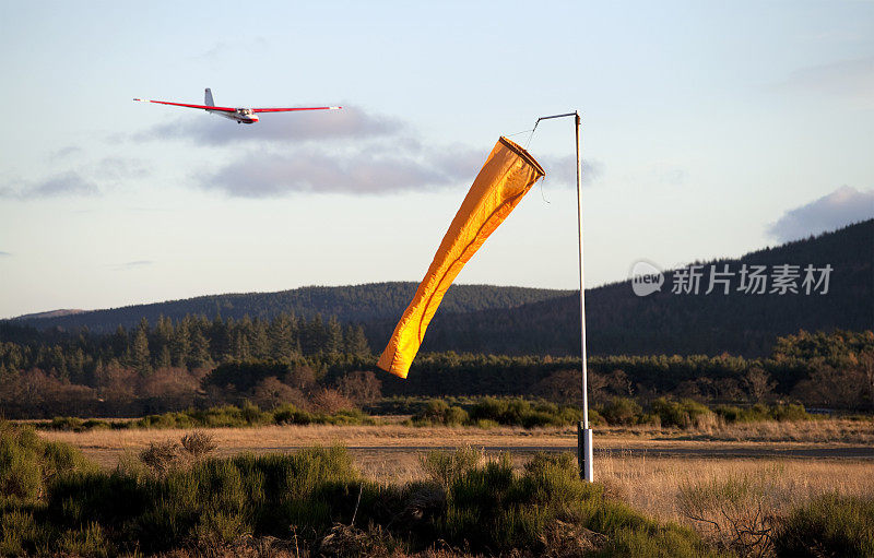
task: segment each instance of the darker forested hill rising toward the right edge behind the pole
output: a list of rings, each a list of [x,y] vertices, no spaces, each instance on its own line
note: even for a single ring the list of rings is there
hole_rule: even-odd
[[[729,265],[730,293],[722,287],[705,295],[709,268]],[[766,265],[765,294],[737,290],[743,264]],[[773,266],[799,265],[799,294],[779,295]],[[804,294],[804,268],[831,265],[828,293]],[[676,272],[666,272],[661,292],[634,294],[629,281],[586,292],[588,348],[595,355],[709,354],[761,356],[778,335],[799,330],[874,329],[874,219],[816,238],[751,252],[739,259],[704,264],[699,294],[674,294]],[[817,275],[818,278],[818,275]],[[439,319],[438,319],[439,318]],[[370,323],[371,344],[387,339],[389,323]],[[379,347],[381,348],[381,347]],[[465,314],[438,312],[423,351],[493,354],[579,354],[577,295],[518,308],[486,309]]]

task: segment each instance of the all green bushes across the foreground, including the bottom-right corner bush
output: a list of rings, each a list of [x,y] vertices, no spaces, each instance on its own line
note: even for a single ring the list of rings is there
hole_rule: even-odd
[[[441,556],[744,551],[736,545],[720,549],[692,530],[641,515],[604,486],[580,480],[567,453],[536,454],[518,471],[508,454],[430,452],[422,458],[427,480],[382,485],[363,478],[342,447],[225,459],[210,458],[214,449],[209,435],[192,432],[102,472],[64,444],[0,423],[0,556],[227,556],[295,548],[276,555],[403,557],[436,547],[450,549]],[[755,483],[744,482],[684,490],[688,511],[702,517],[719,512],[713,502],[734,502],[751,514],[749,502],[760,497]],[[737,510],[725,517],[744,525],[737,522],[747,515],[733,515]],[[778,556],[874,551],[870,500],[824,496],[768,521],[777,522]]]

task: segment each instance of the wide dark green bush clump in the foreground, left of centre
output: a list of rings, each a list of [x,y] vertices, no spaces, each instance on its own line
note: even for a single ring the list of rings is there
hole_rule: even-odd
[[[362,492],[358,517],[369,520],[379,497],[363,483],[345,449],[309,448],[293,454],[243,454],[205,459],[163,475],[67,476],[52,485],[48,507],[58,526],[88,521],[119,542],[145,553],[188,542],[226,544],[241,535],[323,533],[335,520],[349,523]],[[78,527],[76,527],[78,529]]]

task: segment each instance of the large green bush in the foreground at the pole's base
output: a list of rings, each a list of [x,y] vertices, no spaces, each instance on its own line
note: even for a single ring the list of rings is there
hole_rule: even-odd
[[[556,533],[568,524],[572,529]],[[713,555],[692,531],[660,525],[580,480],[570,454],[538,454],[521,475],[507,454],[463,472],[450,486],[441,527],[438,535],[451,544],[489,555],[556,555],[583,537],[588,547],[569,555]]]

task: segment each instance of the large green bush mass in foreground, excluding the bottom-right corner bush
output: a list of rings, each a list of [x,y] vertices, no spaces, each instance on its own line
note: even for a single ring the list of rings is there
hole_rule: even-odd
[[[14,448],[33,446],[32,430],[3,431]],[[150,452],[144,461],[154,463]],[[214,554],[270,536],[294,538],[304,555],[379,547],[403,556],[437,541],[487,554],[582,544],[594,556],[714,555],[692,531],[648,520],[581,482],[568,456],[538,455],[521,473],[508,455],[489,461],[470,449],[426,461],[434,479],[406,485],[363,479],[340,447],[127,463],[111,473],[68,466],[43,489],[8,497],[0,554]],[[5,495],[13,485],[2,486]]]

